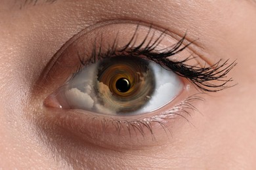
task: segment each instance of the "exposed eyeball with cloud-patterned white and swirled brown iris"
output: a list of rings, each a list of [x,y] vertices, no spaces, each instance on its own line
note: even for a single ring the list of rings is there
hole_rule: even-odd
[[[160,109],[183,88],[179,76],[158,63],[119,56],[83,68],[54,96],[62,109],[134,115]]]

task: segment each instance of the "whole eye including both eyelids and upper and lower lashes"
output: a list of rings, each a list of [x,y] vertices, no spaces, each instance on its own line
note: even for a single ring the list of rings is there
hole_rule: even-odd
[[[45,114],[101,146],[155,140],[175,116],[185,118],[195,109],[192,102],[202,99],[198,93],[218,92],[232,81],[226,74],[236,63],[207,66],[188,50],[191,44],[186,33],[172,38],[167,30],[141,23],[84,30],[56,53],[41,77],[39,84],[51,89]]]

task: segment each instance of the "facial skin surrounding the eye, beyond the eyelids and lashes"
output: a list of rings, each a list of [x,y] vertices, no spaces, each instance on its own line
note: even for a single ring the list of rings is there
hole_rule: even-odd
[[[38,1],[0,3],[0,167],[3,169],[255,169],[256,7],[253,1]],[[106,20],[153,24],[198,39],[193,51],[214,63],[237,59],[238,85],[203,105],[171,143],[91,158],[85,148],[43,143],[33,124],[33,84],[56,51],[85,27]],[[206,107],[207,106],[207,107]],[[53,131],[54,134],[54,131]],[[59,155],[72,148],[78,155]],[[83,152],[84,151],[84,152]],[[95,151],[96,152],[96,151]],[[76,158],[76,160],[72,160]]]

